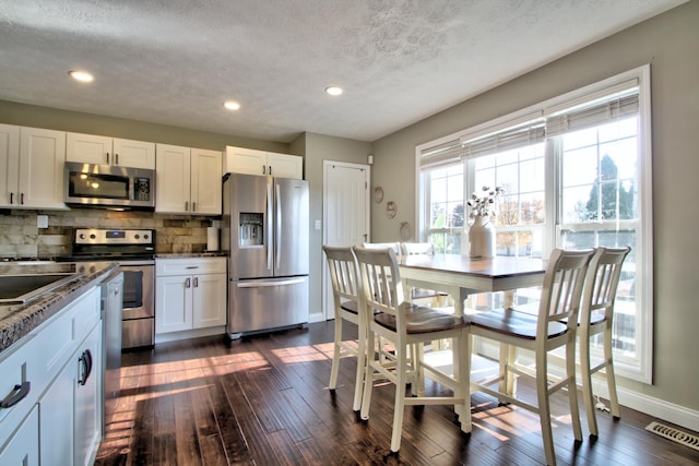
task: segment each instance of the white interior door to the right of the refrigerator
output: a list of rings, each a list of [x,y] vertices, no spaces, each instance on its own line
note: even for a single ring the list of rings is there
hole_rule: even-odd
[[[370,166],[323,163],[323,244],[354,246],[369,239]],[[323,254],[323,313],[334,319],[332,285]]]

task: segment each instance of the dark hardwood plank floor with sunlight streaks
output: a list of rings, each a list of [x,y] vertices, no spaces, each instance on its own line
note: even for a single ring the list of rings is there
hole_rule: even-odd
[[[355,359],[330,392],[332,322],[226,342],[159,344],[127,353],[121,397],[96,465],[542,465],[538,418],[472,397],[466,435],[447,406],[408,407],[398,456],[389,455],[393,387],[374,391],[371,418],[352,410]],[[353,337],[352,330],[347,338]],[[428,384],[440,392],[437,384]],[[520,384],[519,390],[526,390]],[[644,430],[653,419],[599,413],[600,437],[576,445],[564,394],[554,396],[560,465],[690,465],[699,452]]]

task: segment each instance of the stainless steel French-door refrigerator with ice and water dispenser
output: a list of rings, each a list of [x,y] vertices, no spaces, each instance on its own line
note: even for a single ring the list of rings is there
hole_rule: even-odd
[[[229,253],[232,339],[308,322],[308,181],[224,177],[221,246]]]

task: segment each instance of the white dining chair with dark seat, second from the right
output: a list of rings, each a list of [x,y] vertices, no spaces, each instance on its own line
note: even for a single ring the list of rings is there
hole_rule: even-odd
[[[538,414],[544,440],[546,463],[556,464],[550,423],[549,396],[560,389],[568,390],[570,417],[577,441],[582,441],[578,392],[576,385],[576,333],[580,298],[588,264],[594,250],[552,252],[541,291],[537,315],[513,309],[491,310],[470,314],[469,333],[500,344],[499,371],[495,377],[471,383],[471,392],[484,392],[500,403],[511,403]],[[567,323],[561,322],[568,319]],[[565,347],[566,374],[549,378],[548,353]],[[518,349],[533,351],[535,366],[523,366]],[[516,375],[535,381],[536,404],[518,398]],[[497,387],[493,385],[497,384]]]

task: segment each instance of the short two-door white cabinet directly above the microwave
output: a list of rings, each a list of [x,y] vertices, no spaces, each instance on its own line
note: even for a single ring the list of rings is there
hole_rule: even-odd
[[[155,168],[155,143],[68,133],[66,159],[84,164]]]

